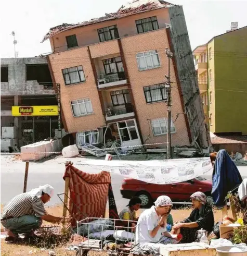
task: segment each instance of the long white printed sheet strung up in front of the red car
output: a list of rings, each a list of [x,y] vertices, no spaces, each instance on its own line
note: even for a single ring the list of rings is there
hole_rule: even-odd
[[[173,184],[213,170],[209,157],[153,161],[88,160],[80,164],[152,184]]]

